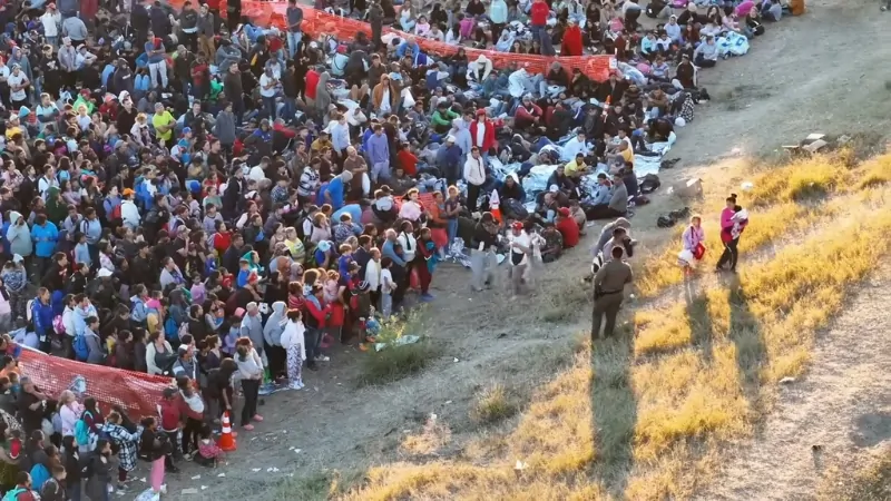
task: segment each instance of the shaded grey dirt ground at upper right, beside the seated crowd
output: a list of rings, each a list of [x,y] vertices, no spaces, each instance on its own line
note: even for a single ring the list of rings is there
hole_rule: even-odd
[[[891,40],[891,13],[880,13],[879,3],[869,0],[814,0],[807,9],[803,17],[768,24],[745,57],[701,71],[699,85],[713,99],[696,108],[669,156],[691,166],[761,155],[812,131],[887,128],[891,91],[874,63],[889,50],[881,46]]]

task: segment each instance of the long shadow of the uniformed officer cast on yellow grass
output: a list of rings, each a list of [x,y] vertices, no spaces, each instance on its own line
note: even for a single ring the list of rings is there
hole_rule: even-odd
[[[621,498],[634,466],[637,399],[631,386],[633,323],[591,346],[591,418],[594,420],[594,473]]]

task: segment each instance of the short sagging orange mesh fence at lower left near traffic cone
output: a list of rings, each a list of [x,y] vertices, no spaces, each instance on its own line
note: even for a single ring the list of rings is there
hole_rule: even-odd
[[[75,362],[27,348],[21,351],[19,365],[23,375],[31,377],[40,390],[53,399],[71,389],[78,377],[82,377],[86,382],[85,394],[96,399],[106,412],[112,405],[120,405],[134,420],[156,415],[155,404],[160,400],[164,389],[170,385],[169,377]]]

